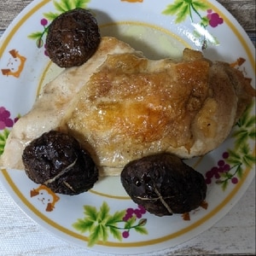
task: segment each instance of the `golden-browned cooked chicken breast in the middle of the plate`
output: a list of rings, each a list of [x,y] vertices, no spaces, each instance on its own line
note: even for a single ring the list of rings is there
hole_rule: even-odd
[[[149,154],[207,154],[224,142],[254,93],[240,71],[200,51],[152,61],[116,38],[102,38],[83,66],[46,84],[11,131],[1,164],[23,169],[23,148],[53,129],[76,137],[102,176],[119,175]]]

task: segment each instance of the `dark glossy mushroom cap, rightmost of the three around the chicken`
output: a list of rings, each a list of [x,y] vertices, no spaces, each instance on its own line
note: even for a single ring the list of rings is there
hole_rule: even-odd
[[[157,216],[190,212],[201,206],[207,194],[201,173],[173,154],[131,161],[120,178],[131,199]]]

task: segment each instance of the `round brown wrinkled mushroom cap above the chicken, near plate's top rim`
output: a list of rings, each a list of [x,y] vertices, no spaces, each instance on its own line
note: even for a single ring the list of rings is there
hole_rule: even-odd
[[[90,59],[100,44],[95,17],[86,9],[72,9],[49,25],[46,51],[59,67],[77,67]]]

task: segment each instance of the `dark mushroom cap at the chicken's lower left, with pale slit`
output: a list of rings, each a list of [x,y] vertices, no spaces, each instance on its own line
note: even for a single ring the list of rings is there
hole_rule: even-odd
[[[26,175],[55,193],[78,195],[91,189],[98,170],[79,142],[60,131],[45,132],[29,143],[22,154]]]

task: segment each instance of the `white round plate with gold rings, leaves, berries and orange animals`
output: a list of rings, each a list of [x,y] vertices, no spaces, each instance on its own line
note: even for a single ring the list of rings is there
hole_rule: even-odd
[[[205,46],[204,53],[212,60],[233,63],[243,58],[236,67],[255,84],[253,44],[215,1],[193,1],[190,6],[178,0],[35,1],[1,38],[0,154],[15,120],[32,108],[38,90],[60,72],[44,55],[45,29],[53,15],[78,3],[96,15],[102,35],[116,36],[150,58],[177,57],[184,47]],[[189,221],[181,215],[159,218],[143,212],[125,195],[119,177],[105,178],[76,196],[52,194],[22,171],[3,169],[0,179],[38,224],[88,250],[119,255],[167,250],[211,227],[253,180],[254,108],[255,102],[219,148],[188,161],[206,177],[208,188],[207,209],[190,212]],[[126,212],[133,212],[132,218],[125,218]]]

